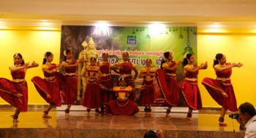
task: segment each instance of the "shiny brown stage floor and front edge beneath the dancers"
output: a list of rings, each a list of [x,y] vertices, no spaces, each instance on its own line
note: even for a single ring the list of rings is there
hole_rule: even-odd
[[[140,112],[134,116],[95,115],[85,111],[50,112],[53,118],[43,119],[42,111],[20,113],[19,123],[12,123],[12,110],[0,111],[0,138],[141,138],[148,129],[162,129],[165,138],[177,137],[244,137],[236,120],[226,116],[227,127],[219,127],[217,111],[193,113],[193,120],[187,121],[186,113],[171,113],[173,118],[165,118],[165,113],[155,112],[144,117]]]

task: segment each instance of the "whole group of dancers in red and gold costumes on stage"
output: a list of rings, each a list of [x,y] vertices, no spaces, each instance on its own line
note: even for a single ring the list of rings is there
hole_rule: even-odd
[[[86,90],[83,97],[83,106],[87,107],[88,114],[91,109],[113,115],[134,115],[140,110],[135,103],[135,92],[140,92],[139,104],[145,106],[145,115],[151,116],[151,105],[157,99],[154,85],[154,78],[161,89],[167,105],[166,118],[171,118],[171,107],[177,106],[181,97],[187,102],[189,111],[187,119],[192,120],[192,110],[200,110],[202,102],[200,91],[197,86],[197,75],[199,70],[208,67],[207,62],[195,65],[193,54],[186,54],[182,62],[173,60],[172,52],[165,52],[161,64],[161,69],[152,68],[151,59],[146,60],[146,67],[140,69],[140,73],[135,65],[129,61],[129,53],[122,54],[122,60],[111,65],[108,62],[108,54],[102,54],[102,62],[91,57],[89,60],[73,59],[72,50],[64,51],[64,61],[54,64],[53,54],[46,52],[42,62],[44,78],[34,76],[31,81],[41,97],[49,103],[48,108],[43,111],[43,118],[51,118],[49,111],[55,106],[61,106],[61,97],[67,104],[65,115],[69,116],[69,109],[75,104],[78,93],[77,68],[81,62],[86,64]],[[38,66],[36,62],[26,63],[20,53],[14,54],[14,66],[10,67],[12,81],[0,78],[0,96],[4,100],[16,107],[13,122],[18,123],[20,112],[27,111],[28,89],[25,80],[26,70]],[[177,68],[182,67],[182,73],[177,73]],[[206,87],[211,97],[222,106],[219,117],[219,126],[226,126],[224,116],[226,110],[237,111],[236,96],[230,81],[231,69],[240,68],[242,64],[227,63],[224,54],[217,54],[214,59],[214,70],[217,78],[204,78],[203,86]],[[64,68],[64,73],[59,70]],[[113,86],[111,70],[119,74],[118,85]],[[132,75],[134,71],[135,75]],[[135,88],[135,79],[143,78],[140,88]],[[181,95],[182,94],[182,95]],[[101,110],[99,110],[101,108]]]

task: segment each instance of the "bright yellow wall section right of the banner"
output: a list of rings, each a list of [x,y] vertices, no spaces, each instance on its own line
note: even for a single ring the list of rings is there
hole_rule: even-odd
[[[215,78],[212,68],[214,57],[219,52],[225,54],[227,62],[242,62],[244,64],[241,68],[233,68],[231,76],[238,106],[243,102],[251,102],[256,107],[256,33],[232,32],[207,33],[199,30],[197,36],[198,62],[208,61],[208,69],[200,70],[198,80],[201,82],[204,77]],[[220,107],[211,99],[202,84],[199,84],[199,89],[203,107]]]

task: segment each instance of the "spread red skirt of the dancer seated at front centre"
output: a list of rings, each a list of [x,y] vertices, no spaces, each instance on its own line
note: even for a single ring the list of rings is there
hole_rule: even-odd
[[[108,103],[105,112],[113,115],[134,115],[135,113],[140,112],[140,110],[133,101],[113,100]]]

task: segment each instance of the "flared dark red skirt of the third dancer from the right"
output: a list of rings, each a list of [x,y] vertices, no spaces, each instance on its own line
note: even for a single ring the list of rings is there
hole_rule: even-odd
[[[168,105],[178,105],[180,95],[178,93],[178,82],[167,76],[164,70],[157,70],[157,80],[160,84],[160,89],[165,97],[165,101]]]

